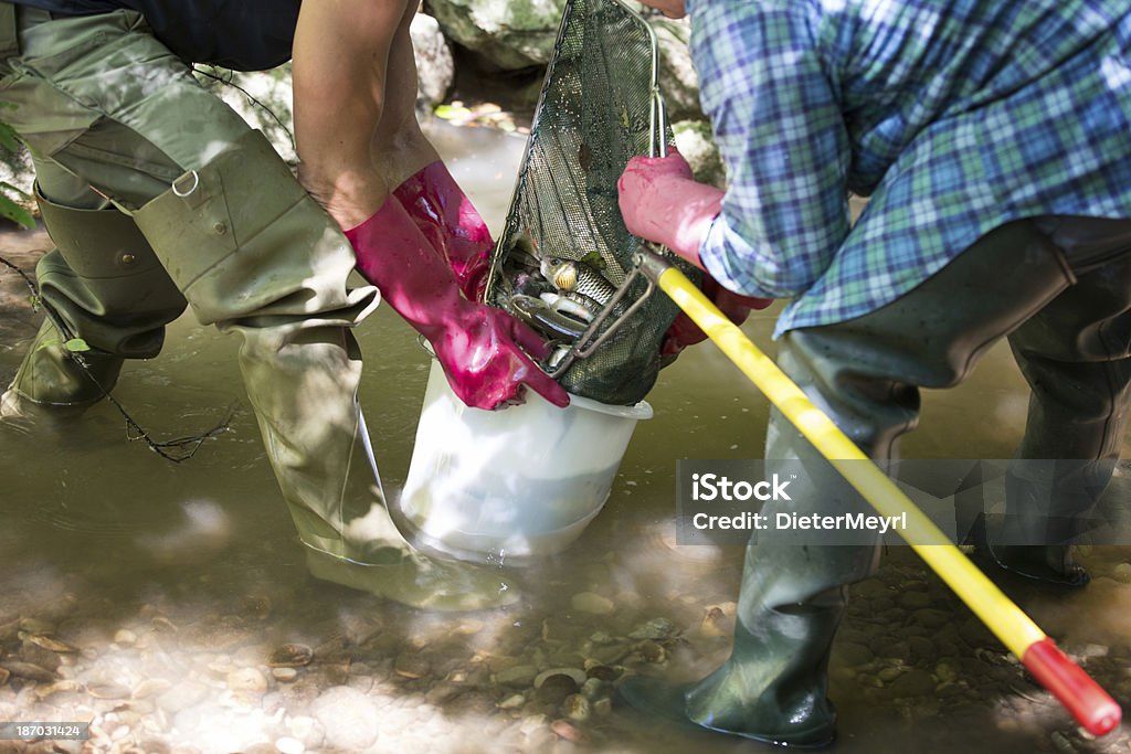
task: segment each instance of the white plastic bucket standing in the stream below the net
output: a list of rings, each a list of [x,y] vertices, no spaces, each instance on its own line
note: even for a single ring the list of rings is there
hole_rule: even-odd
[[[608,499],[651,406],[570,398],[561,409],[527,390],[521,406],[469,408],[433,361],[399,501],[408,534],[475,560],[547,555],[572,543]]]

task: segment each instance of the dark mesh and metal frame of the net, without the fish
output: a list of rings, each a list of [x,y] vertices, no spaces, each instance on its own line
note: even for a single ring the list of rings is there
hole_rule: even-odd
[[[539,257],[580,263],[599,253],[601,275],[615,293],[546,370],[573,395],[634,404],[658,374],[663,335],[679,310],[638,269],[644,242],[624,226],[616,181],[630,157],[666,156],[670,137],[651,25],[625,0],[569,0],[492,254],[485,301],[512,311],[507,262],[523,236],[534,240]],[[653,250],[698,281],[690,265]]]

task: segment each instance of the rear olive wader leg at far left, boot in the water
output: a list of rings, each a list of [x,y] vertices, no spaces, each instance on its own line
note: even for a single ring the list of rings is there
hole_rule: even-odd
[[[55,242],[36,266],[36,278],[64,331],[50,318],[43,322],[2,399],[6,416],[27,413],[28,404],[81,410],[100,400],[118,381],[123,359],[157,355],[165,324],[185,305],[128,215],[66,207],[38,185],[36,200]],[[90,349],[72,354],[64,346],[71,338]]]

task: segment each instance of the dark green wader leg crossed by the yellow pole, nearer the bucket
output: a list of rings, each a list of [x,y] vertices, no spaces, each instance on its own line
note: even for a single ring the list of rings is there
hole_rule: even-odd
[[[892,458],[899,436],[918,421],[920,387],[964,380],[990,345],[1073,281],[1047,237],[1030,223],[1011,223],[877,312],[787,332],[778,361],[862,450]],[[812,452],[778,411],[770,413],[768,458],[800,458],[808,467]],[[792,496],[797,513],[826,512],[827,495],[798,487]],[[763,511],[785,505],[791,503],[769,503]],[[782,532],[752,543],[726,664],[691,686],[649,681],[627,683],[622,692],[640,708],[713,730],[793,746],[828,743],[835,713],[824,699],[827,666],[845,586],[865,577],[877,554],[875,547],[802,547]]]

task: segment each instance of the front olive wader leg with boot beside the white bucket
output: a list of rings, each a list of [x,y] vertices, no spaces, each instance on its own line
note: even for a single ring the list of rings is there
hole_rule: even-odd
[[[353,249],[258,131],[135,213],[193,312],[239,332],[268,458],[316,575],[431,609],[511,597],[489,571],[417,554],[386,509],[356,404]]]

